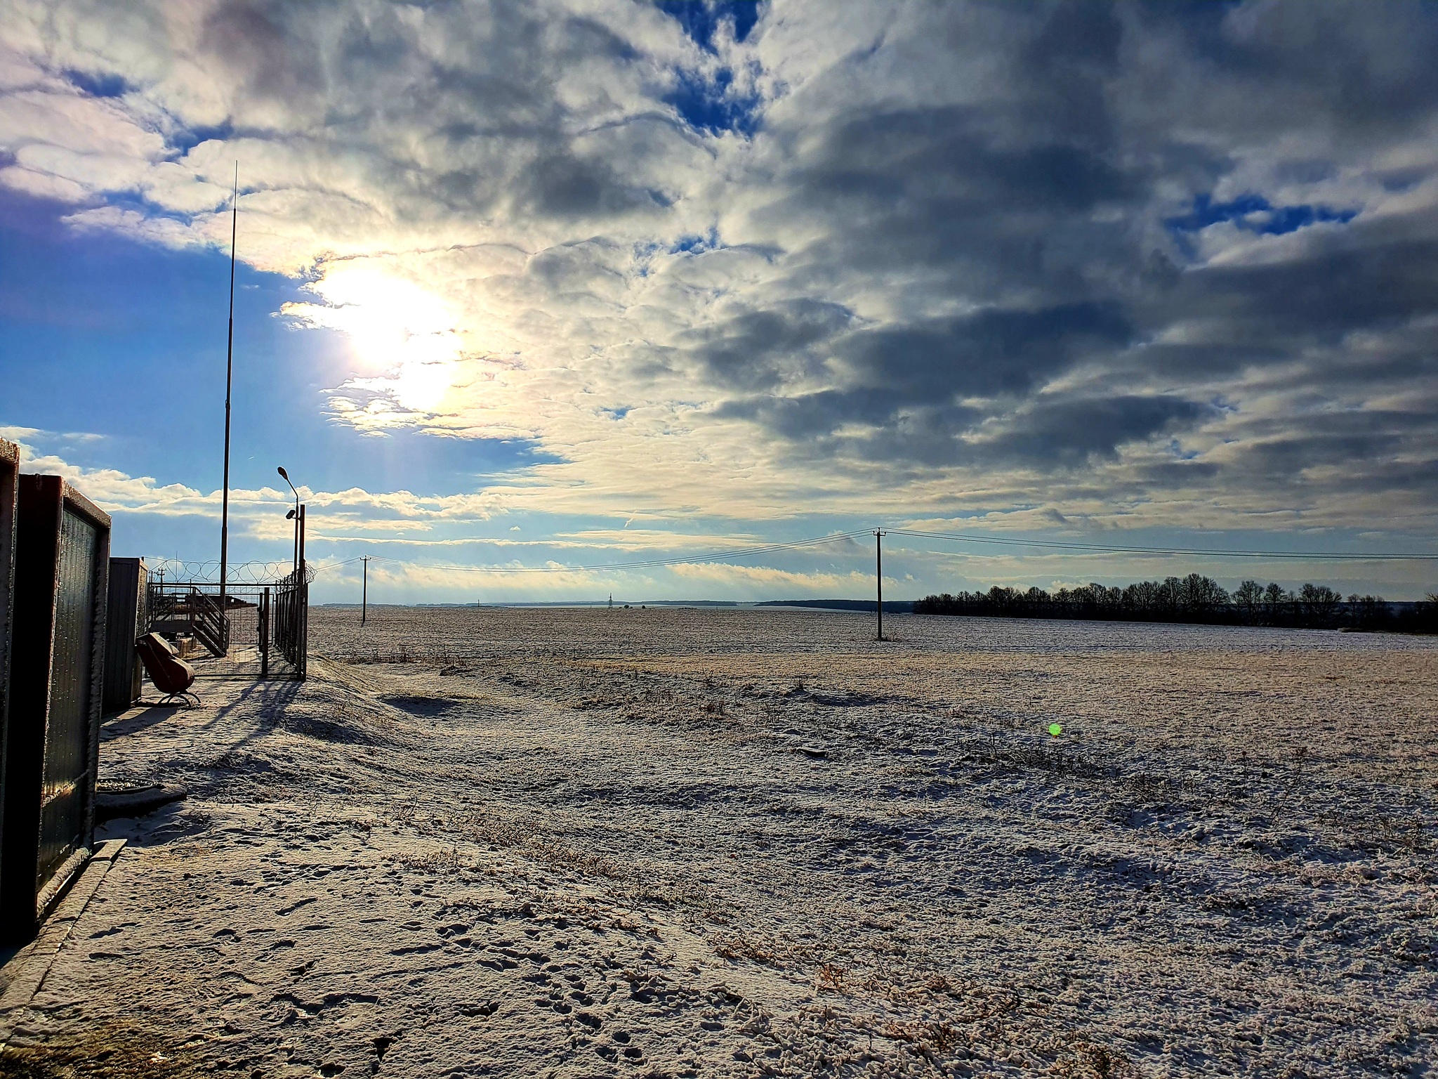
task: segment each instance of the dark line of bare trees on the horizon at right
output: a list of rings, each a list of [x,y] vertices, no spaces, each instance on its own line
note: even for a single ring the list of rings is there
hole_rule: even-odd
[[[1379,596],[1349,596],[1326,584],[1288,591],[1281,584],[1244,581],[1229,593],[1202,574],[1137,581],[1123,588],[1007,588],[926,596],[915,614],[969,614],[1004,619],[1097,619],[1109,622],[1198,622],[1221,626],[1396,630],[1438,633],[1438,596],[1426,603],[1391,604]]]

